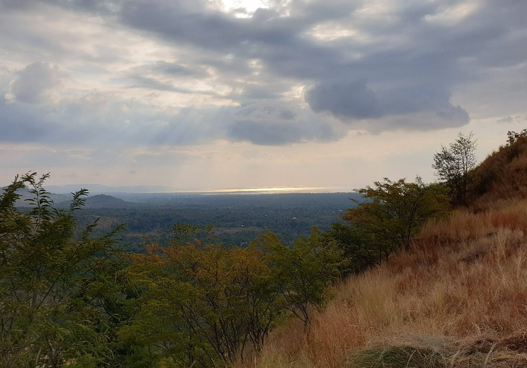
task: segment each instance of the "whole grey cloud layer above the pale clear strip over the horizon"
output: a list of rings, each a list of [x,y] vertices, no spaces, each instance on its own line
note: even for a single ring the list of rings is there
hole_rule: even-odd
[[[150,160],[527,115],[525,1],[238,3],[0,0],[0,145]]]

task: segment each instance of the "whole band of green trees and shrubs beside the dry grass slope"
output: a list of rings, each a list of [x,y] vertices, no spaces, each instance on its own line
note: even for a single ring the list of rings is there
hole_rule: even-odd
[[[121,227],[94,238],[95,220],[80,231],[87,191],[53,208],[47,177],[17,177],[0,196],[3,366],[235,364],[288,316],[309,331],[343,275],[408,248],[447,209],[442,186],[385,179],[359,190],[365,201],[343,216],[350,224],[313,227],[291,246],[272,232],[246,248],[225,245],[212,226],[176,223],[167,245],[122,257]],[[22,213],[15,202],[26,185],[34,199]]]

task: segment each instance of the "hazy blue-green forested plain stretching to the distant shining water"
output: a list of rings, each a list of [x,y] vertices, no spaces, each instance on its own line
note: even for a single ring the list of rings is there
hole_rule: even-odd
[[[180,194],[180,193],[109,193],[87,197],[77,215],[86,225],[100,218],[95,234],[124,224],[129,251],[141,251],[145,236],[167,242],[175,223],[211,224],[216,241],[247,246],[266,230],[290,243],[308,236],[311,228],[329,230],[331,223],[342,222],[340,215],[353,207],[349,193],[280,193],[280,194]],[[116,200],[116,198],[119,198]],[[58,203],[67,206],[69,201]]]

